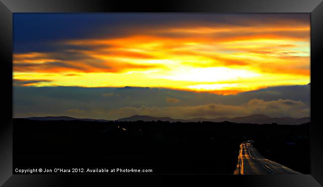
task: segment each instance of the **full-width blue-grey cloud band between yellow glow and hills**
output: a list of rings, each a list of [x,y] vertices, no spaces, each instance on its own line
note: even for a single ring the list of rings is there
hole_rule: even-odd
[[[236,95],[152,88],[19,87],[14,117],[69,115],[118,119],[131,115],[172,118],[310,115],[310,85],[261,89]]]

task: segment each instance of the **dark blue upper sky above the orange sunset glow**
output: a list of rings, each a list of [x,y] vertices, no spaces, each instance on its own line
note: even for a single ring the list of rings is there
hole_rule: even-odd
[[[130,16],[129,16],[130,15]],[[117,14],[117,13],[14,13],[14,52],[43,52],[55,49],[49,42],[66,39],[117,37],[134,27],[160,27],[194,23],[243,25],[277,20],[309,22],[304,14]]]

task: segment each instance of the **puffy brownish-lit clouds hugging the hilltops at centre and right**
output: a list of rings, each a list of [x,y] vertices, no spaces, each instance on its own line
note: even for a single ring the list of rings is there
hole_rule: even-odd
[[[128,117],[132,115],[149,115],[156,117],[172,117],[175,119],[190,119],[194,117],[217,118],[237,117],[252,114],[265,114],[275,117],[305,117],[310,115],[310,109],[302,101],[252,99],[242,105],[207,104],[198,106],[177,107],[123,107],[110,110],[111,118]]]

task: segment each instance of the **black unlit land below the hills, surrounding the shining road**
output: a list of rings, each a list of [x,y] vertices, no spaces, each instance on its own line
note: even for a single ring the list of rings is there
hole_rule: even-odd
[[[240,145],[310,173],[310,123],[13,119],[13,168],[152,169],[154,174],[233,174]]]

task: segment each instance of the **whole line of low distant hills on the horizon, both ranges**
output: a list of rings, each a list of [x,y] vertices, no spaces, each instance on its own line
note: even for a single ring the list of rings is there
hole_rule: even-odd
[[[81,120],[81,121],[99,121],[99,122],[107,122],[109,120],[106,119],[89,119],[89,118],[74,118],[69,116],[46,116],[46,117],[26,117],[25,119],[31,120]],[[234,123],[255,123],[255,124],[286,124],[286,125],[298,125],[311,121],[310,117],[302,117],[302,118],[291,118],[291,117],[269,117],[263,114],[254,114],[248,116],[227,118],[227,117],[219,117],[214,119],[207,118],[192,118],[192,119],[172,119],[170,117],[152,117],[148,115],[134,115],[131,117],[125,117],[117,119],[116,121],[169,121],[169,122],[198,122],[198,121],[211,121],[211,122],[223,122],[229,121]]]

